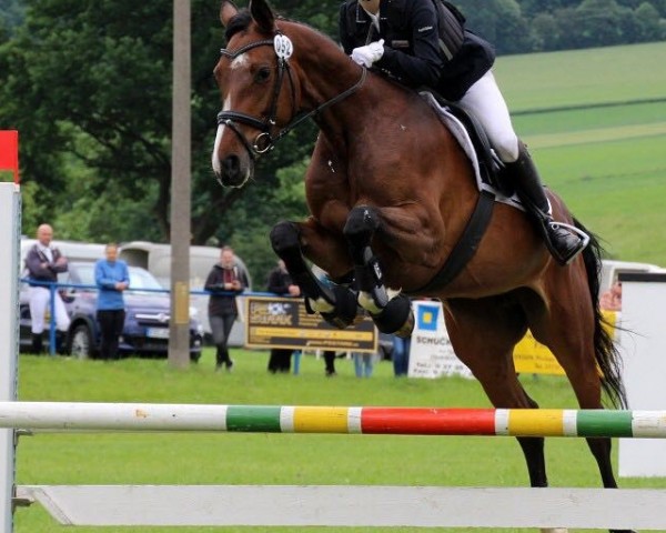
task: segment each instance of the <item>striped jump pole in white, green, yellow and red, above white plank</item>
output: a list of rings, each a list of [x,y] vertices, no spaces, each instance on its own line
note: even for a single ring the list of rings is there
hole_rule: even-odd
[[[0,402],[0,428],[401,435],[666,438],[666,411]]]

